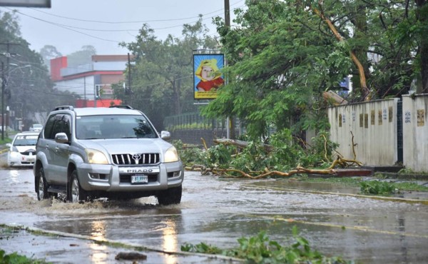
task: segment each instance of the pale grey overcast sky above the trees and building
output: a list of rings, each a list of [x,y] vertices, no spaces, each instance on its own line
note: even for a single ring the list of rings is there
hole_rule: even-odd
[[[243,8],[245,0],[230,0],[230,13]],[[0,6],[1,11],[19,11],[21,34],[40,51],[55,46],[64,56],[94,46],[97,54],[127,54],[121,41],[136,40],[144,23],[155,30],[158,39],[168,34],[180,37],[183,24],[194,24],[198,14],[210,34],[217,35],[212,18],[224,19],[224,0],[51,0],[51,8],[16,8]]]

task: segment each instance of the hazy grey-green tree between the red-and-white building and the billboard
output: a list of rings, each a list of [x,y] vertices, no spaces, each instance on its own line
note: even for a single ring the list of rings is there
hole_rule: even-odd
[[[145,24],[135,42],[123,43],[133,54],[135,65],[131,74],[132,95],[115,89],[118,98],[143,110],[158,129],[163,128],[163,118],[195,111],[193,106],[193,64],[195,49],[213,49],[215,41],[208,36],[202,16],[193,25],[183,26],[181,38],[169,35],[164,41],[154,35]]]

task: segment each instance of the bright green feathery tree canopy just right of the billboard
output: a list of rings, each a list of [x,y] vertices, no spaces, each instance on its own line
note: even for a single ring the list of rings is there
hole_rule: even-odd
[[[205,108],[207,116],[233,113],[253,138],[267,136],[272,127],[293,127],[299,134],[302,128],[327,126],[314,111],[317,100],[326,88],[338,86],[352,62],[343,44],[325,34],[327,25],[300,2],[247,1],[247,10],[235,11],[240,26],[233,29],[217,19],[233,81]]]

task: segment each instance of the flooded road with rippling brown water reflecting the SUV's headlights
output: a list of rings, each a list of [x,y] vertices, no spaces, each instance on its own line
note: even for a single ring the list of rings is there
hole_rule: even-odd
[[[200,242],[236,248],[238,238],[261,230],[271,240],[288,245],[296,225],[312,248],[325,255],[340,255],[357,263],[424,263],[428,259],[427,203],[358,196],[357,188],[287,179],[220,179],[186,171],[182,202],[159,206],[154,197],[85,204],[39,202],[31,169],[1,168],[0,180],[0,223],[8,225],[165,252],[179,252],[183,243]],[[6,243],[0,240],[0,248]],[[103,258],[103,263],[115,262]],[[158,256],[147,263],[225,262],[197,257],[183,262]]]

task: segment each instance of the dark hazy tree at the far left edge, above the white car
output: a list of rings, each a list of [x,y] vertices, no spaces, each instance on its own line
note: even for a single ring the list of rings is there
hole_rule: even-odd
[[[22,39],[14,12],[0,12],[0,60],[4,63],[5,106],[11,119],[22,118],[31,125],[36,112],[49,112],[54,106],[73,103],[75,96],[54,91],[49,71],[40,54]],[[35,120],[34,120],[35,121]]]

